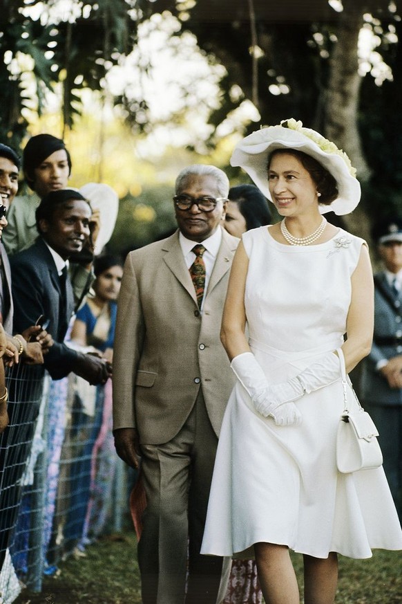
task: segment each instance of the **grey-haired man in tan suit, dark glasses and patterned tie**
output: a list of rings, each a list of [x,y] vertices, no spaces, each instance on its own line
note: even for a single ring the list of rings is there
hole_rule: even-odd
[[[200,546],[218,433],[233,385],[219,334],[239,239],[220,226],[229,192],[222,170],[187,167],[175,191],[178,230],[131,252],[124,266],[113,432],[119,457],[133,467],[142,458],[142,602],[215,604],[222,560],[201,556]],[[195,244],[202,244],[201,259],[192,251]],[[194,265],[200,277],[195,284]]]

